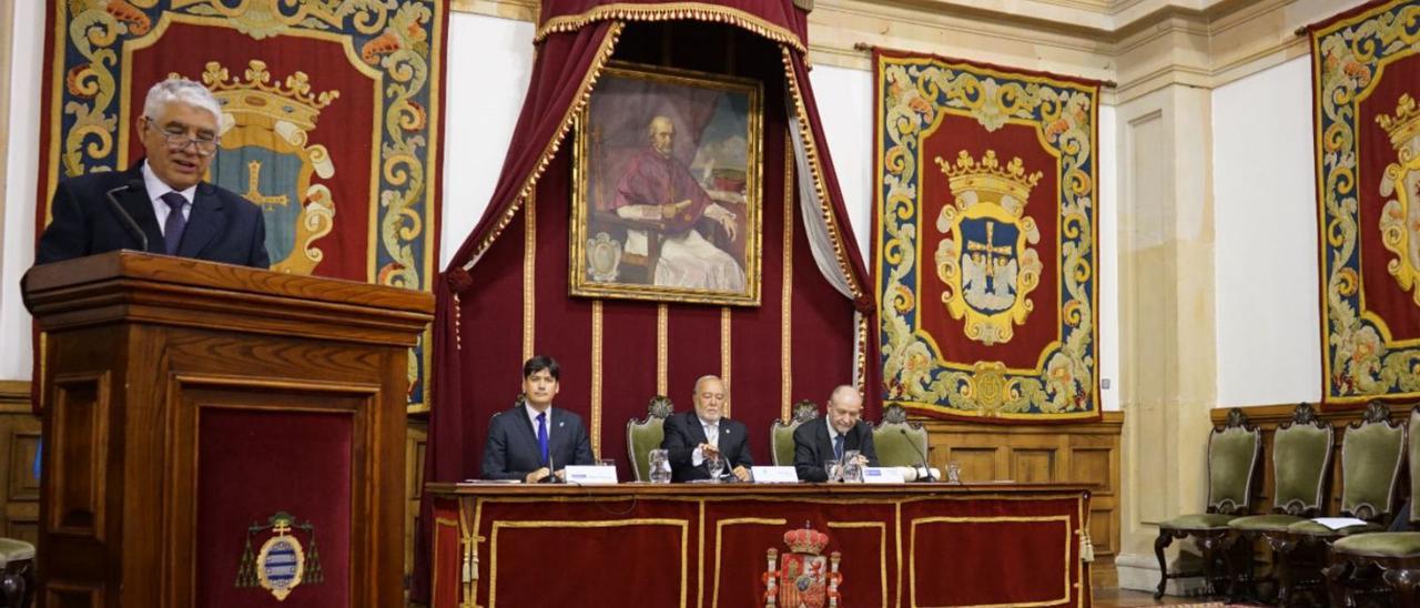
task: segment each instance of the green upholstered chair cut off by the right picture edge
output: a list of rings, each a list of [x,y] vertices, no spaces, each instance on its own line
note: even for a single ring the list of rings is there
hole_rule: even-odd
[[[1406,452],[1410,457],[1410,528],[1420,524],[1420,405],[1410,411]],[[1333,605],[1356,605],[1350,597],[1376,587],[1389,588],[1382,605],[1414,607],[1420,582],[1420,531],[1350,534],[1331,545],[1326,568]]]

